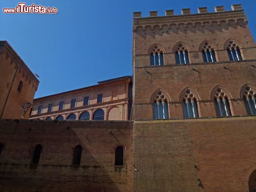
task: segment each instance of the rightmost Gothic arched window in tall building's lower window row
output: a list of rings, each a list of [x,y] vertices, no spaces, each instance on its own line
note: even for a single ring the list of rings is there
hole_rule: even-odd
[[[256,115],[256,93],[250,87],[246,87],[244,91],[244,105],[248,115]]]

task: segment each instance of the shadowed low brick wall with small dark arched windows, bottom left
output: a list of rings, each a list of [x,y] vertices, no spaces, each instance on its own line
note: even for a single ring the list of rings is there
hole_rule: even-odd
[[[130,121],[1,120],[0,190],[132,191],[132,132]],[[35,165],[37,144],[42,152]],[[81,165],[72,166],[77,145]],[[123,166],[115,166],[119,145]]]

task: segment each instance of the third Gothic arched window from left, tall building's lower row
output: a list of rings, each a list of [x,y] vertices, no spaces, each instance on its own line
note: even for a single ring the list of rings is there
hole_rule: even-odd
[[[228,96],[221,88],[218,88],[215,93],[214,105],[215,105],[215,110],[216,110],[217,116],[230,116],[231,115]]]

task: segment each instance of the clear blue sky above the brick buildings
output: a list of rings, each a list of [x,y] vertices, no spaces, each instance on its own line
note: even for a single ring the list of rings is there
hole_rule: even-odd
[[[40,78],[35,98],[61,93],[96,84],[97,81],[132,74],[132,20],[133,12],[174,9],[175,15],[182,8],[242,3],[256,38],[255,4],[249,0],[27,0],[31,5],[58,8],[57,14],[4,14],[2,8],[15,8],[20,1],[1,0],[0,40],[7,40]],[[23,1],[24,2],[24,1]]]

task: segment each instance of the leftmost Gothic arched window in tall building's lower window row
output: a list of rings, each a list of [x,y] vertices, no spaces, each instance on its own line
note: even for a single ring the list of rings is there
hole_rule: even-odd
[[[155,97],[154,102],[154,119],[168,119],[168,104],[166,101],[166,96],[163,92],[159,91]]]

